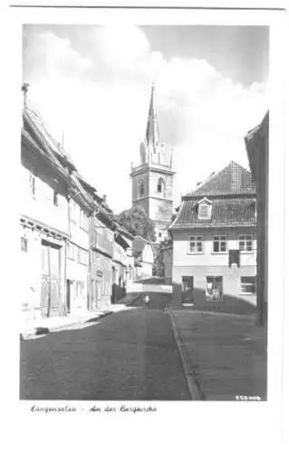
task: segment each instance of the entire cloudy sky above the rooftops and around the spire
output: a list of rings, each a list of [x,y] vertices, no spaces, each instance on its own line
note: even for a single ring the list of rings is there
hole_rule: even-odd
[[[155,84],[174,203],[231,160],[268,108],[265,26],[24,25],[28,102],[115,212],[131,206]]]

